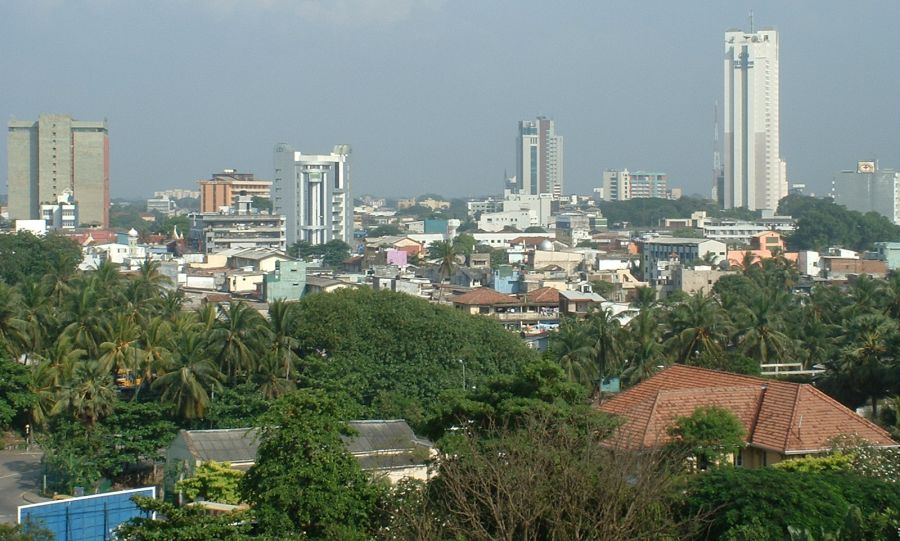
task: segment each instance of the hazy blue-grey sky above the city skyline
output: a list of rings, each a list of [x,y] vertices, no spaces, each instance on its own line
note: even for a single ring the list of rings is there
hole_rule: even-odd
[[[107,118],[113,197],[271,178],[277,142],[352,145],[356,195],[499,192],[539,114],[568,193],[621,167],[708,193],[724,31],[751,8],[780,31],[790,180],[900,168],[895,0],[0,0],[0,116]]]

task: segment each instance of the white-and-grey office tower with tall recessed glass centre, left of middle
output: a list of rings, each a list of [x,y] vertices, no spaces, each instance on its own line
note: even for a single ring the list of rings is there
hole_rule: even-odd
[[[349,145],[337,145],[325,155],[303,154],[283,143],[275,145],[272,187],[275,213],[285,216],[288,246],[298,240],[350,243],[353,198]]]

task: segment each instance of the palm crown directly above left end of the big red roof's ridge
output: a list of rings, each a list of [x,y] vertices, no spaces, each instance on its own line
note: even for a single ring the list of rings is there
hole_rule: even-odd
[[[669,317],[669,340],[679,364],[722,358],[731,323],[719,302],[703,291],[677,304]]]

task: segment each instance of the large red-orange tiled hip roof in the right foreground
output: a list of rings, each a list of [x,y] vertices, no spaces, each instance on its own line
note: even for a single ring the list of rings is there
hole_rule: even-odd
[[[666,443],[675,420],[700,406],[728,409],[744,425],[748,445],[782,454],[824,451],[839,434],[897,445],[887,432],[812,385],[684,365],[666,368],[599,408],[624,419],[612,443],[638,449]]]

